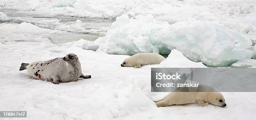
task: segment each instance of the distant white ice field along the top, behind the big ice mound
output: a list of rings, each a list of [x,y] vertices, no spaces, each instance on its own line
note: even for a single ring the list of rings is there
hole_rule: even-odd
[[[251,0],[250,3],[255,2]],[[223,1],[222,1],[223,2]],[[75,17],[115,18],[121,14],[131,17],[152,13],[159,19],[186,20],[189,17],[220,20],[224,15],[237,15],[253,10],[254,4],[226,5],[212,0],[1,0],[9,9],[42,11]],[[217,12],[216,12],[217,11]],[[216,12],[213,14],[212,12]],[[170,16],[175,15],[174,17]],[[232,19],[227,17],[225,19]]]

